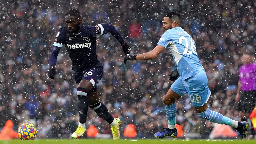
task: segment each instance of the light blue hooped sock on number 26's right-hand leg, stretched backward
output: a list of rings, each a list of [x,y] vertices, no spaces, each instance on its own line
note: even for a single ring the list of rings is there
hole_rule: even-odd
[[[200,118],[206,119],[210,122],[218,123],[218,124],[225,124],[225,125],[230,125],[232,127],[237,127],[237,121],[234,121],[228,117],[223,116],[222,114],[212,111],[209,108],[207,108],[206,111],[202,113],[197,113],[197,115]]]

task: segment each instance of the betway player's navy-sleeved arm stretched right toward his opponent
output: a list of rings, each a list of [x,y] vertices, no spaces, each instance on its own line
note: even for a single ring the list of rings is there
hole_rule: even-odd
[[[102,23],[100,25],[103,27],[103,34],[111,33],[119,41],[119,43],[122,45],[122,49],[125,55],[131,53],[131,47],[124,41],[123,37],[113,25],[105,23]]]

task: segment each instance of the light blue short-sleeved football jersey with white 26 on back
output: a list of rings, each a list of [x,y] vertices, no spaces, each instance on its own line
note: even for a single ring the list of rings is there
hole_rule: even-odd
[[[167,47],[170,50],[178,73],[183,80],[204,69],[196,53],[195,41],[181,27],[167,30],[157,45]]]

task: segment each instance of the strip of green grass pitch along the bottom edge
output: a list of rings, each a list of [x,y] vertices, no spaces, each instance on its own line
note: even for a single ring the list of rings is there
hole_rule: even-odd
[[[35,139],[0,140],[0,144],[256,144],[256,140],[206,140],[206,139]]]

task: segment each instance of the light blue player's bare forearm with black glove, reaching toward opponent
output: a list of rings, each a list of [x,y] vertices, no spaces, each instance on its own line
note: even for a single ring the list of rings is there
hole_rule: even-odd
[[[126,55],[124,58],[124,63],[126,63],[127,60],[150,60],[155,59],[157,56],[164,50],[164,47],[161,45],[157,45],[153,50],[138,54],[138,55]]]

